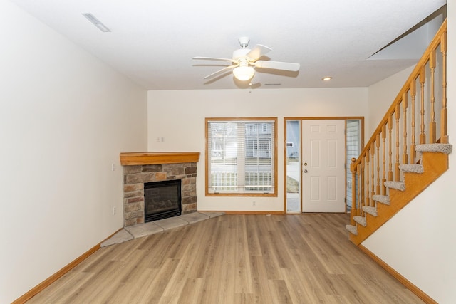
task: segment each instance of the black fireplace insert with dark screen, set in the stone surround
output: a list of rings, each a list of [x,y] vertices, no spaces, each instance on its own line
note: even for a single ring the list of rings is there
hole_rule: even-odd
[[[182,213],[181,180],[144,184],[144,221],[157,221]]]

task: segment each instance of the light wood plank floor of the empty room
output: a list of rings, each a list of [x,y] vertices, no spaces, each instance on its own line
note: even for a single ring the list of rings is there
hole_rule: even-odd
[[[423,303],[346,214],[224,215],[100,248],[28,303]]]

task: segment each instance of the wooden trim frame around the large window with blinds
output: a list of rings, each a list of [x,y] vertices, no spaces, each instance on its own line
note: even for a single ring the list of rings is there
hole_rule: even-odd
[[[273,182],[273,189],[271,192],[261,193],[261,192],[209,192],[209,179],[210,172],[209,172],[209,163],[211,161],[211,151],[209,151],[209,122],[245,122],[245,123],[255,123],[255,122],[274,122],[274,128],[271,130],[272,135],[271,139],[274,140],[272,145],[272,150],[274,153],[274,157],[271,159],[271,164],[273,169],[271,173],[274,174],[274,182]],[[205,147],[205,192],[206,196],[266,196],[266,197],[277,197],[277,117],[207,117],[205,118],[204,122],[204,130],[205,130],[205,140],[206,140],[206,147]]]

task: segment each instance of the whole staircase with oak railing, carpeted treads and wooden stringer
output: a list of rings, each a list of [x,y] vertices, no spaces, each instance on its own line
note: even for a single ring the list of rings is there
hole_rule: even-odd
[[[447,21],[358,159],[349,239],[357,246],[448,169]]]

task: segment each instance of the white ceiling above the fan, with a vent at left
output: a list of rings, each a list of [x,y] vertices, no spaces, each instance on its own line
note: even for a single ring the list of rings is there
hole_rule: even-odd
[[[366,87],[416,63],[415,55],[403,54],[404,45],[423,53],[435,26],[421,29],[428,35],[415,32],[407,43],[390,46],[386,56],[368,58],[446,4],[445,0],[11,1],[147,90],[249,88],[248,82],[235,81],[231,73],[203,80],[224,63],[192,60],[231,58],[241,36],[249,36],[251,48],[257,43],[272,48],[267,54],[271,61],[301,64],[299,73],[257,69],[252,88]],[[111,32],[100,31],[83,13],[93,14]],[[324,76],[333,79],[323,82]]]

